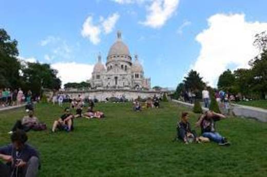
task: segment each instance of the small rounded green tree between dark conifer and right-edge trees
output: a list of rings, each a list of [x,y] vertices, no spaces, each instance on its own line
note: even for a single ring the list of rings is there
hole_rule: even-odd
[[[233,92],[235,86],[235,75],[232,73],[231,70],[227,69],[224,71],[218,80],[218,88],[223,89],[225,91]]]

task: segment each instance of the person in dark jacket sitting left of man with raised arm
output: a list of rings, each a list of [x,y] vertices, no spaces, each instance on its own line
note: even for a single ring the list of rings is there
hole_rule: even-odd
[[[185,144],[192,142],[199,143],[197,132],[195,130],[191,130],[188,120],[188,112],[182,112],[181,121],[177,123],[177,137]]]

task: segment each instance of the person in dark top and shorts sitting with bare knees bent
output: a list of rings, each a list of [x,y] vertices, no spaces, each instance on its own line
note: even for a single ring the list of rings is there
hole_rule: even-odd
[[[70,109],[67,107],[64,109],[65,113],[60,117],[58,121],[55,121],[52,127],[52,132],[56,129],[72,131],[73,130],[73,115],[70,113]]]

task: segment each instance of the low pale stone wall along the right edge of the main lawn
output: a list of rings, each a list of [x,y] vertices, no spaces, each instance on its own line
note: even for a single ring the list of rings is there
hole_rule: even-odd
[[[173,100],[173,102],[176,102],[178,104],[181,104],[183,106],[187,106],[190,108],[194,107],[194,104],[181,102],[178,100]],[[244,106],[244,105],[238,105],[238,104],[231,104],[232,111],[235,115],[245,118],[253,118],[261,122],[267,122],[267,110],[262,108],[256,108],[252,106]],[[208,110],[207,108],[202,107],[204,111]]]

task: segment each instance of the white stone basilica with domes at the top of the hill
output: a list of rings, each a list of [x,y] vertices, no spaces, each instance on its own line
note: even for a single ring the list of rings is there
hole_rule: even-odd
[[[121,32],[117,33],[117,41],[110,47],[106,66],[102,64],[101,56],[94,65],[90,84],[92,89],[107,90],[150,90],[150,78],[144,77],[144,70],[135,55],[132,58],[128,47],[123,43]]]

